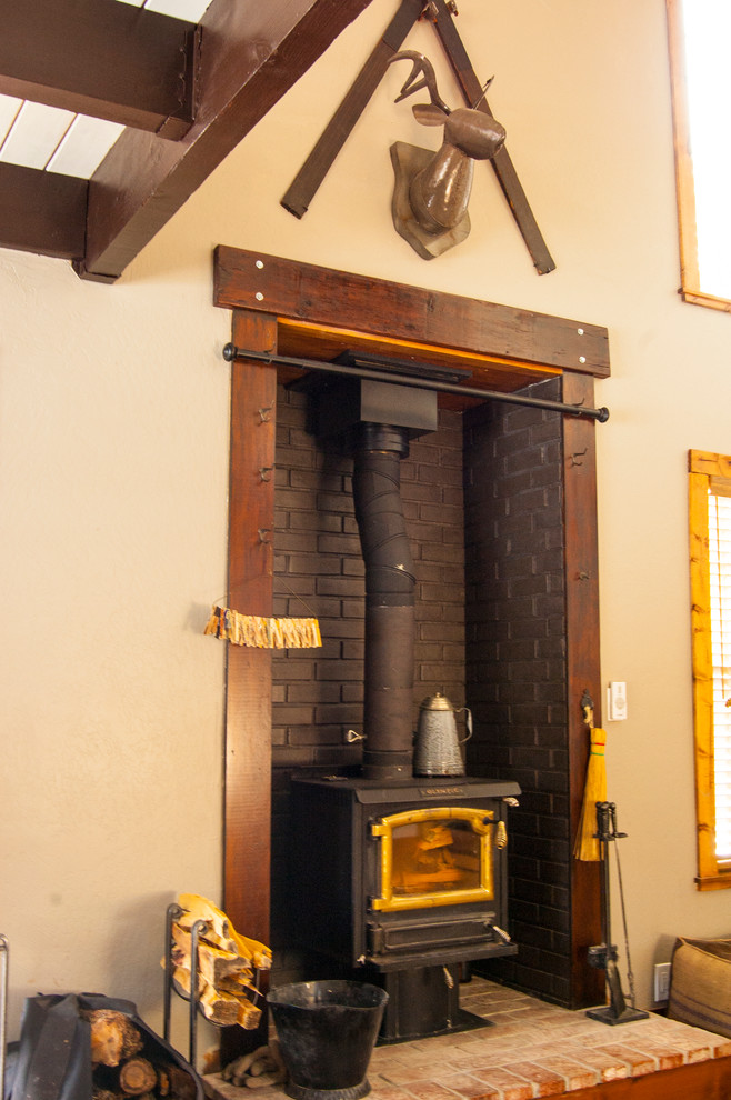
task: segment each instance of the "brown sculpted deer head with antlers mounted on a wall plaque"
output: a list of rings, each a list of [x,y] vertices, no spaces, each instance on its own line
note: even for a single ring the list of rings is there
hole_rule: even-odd
[[[423,53],[402,50],[389,63],[404,59],[413,66],[395,102],[425,88],[431,102],[417,103],[414,118],[422,126],[443,126],[444,136],[437,152],[401,141],[391,146],[393,224],[419,256],[431,260],[468,236],[474,161],[494,157],[505,131],[477,104],[451,110],[439,96],[433,67]],[[488,87],[489,82],[484,91]]]

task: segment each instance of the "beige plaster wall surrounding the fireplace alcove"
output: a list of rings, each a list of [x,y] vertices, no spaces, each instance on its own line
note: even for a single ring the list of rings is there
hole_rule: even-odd
[[[434,144],[392,70],[301,220],[279,198],[390,18],[371,8],[114,287],[0,252],[0,931],[11,1031],[39,989],[159,1021],[164,907],[221,887],[229,317],[221,242],[605,324],[597,428],[610,798],[641,1003],[677,933],[729,933],[693,887],[685,452],[729,452],[728,316],[684,306],[663,0],[464,0],[459,27],[558,263],[539,277],[489,169],[471,237],[425,263],[390,223],[395,139]],[[431,30],[429,50],[455,100]],[[713,396],[715,394],[715,396]],[[614,938],[621,939],[615,909]],[[246,931],[246,930],[244,930]]]

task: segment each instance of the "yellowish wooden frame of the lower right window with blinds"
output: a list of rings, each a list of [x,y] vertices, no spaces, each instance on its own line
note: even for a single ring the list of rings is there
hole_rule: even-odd
[[[708,492],[714,477],[731,477],[731,458],[689,451],[690,589],[693,659],[693,730],[699,890],[731,888],[731,860],[715,854],[713,660]]]

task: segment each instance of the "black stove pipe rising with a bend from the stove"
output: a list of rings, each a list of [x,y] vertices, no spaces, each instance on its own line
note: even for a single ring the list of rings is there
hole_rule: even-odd
[[[407,429],[362,423],[353,501],[366,563],[363,776],[411,777],[413,754],[414,576],[401,502]]]

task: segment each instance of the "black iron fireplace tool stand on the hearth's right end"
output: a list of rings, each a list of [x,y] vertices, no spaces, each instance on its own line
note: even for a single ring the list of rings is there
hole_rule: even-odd
[[[603,1008],[589,1009],[587,1016],[590,1016],[592,1020],[599,1020],[601,1023],[609,1023],[612,1026],[617,1023],[630,1023],[633,1020],[647,1020],[650,1014],[649,1012],[642,1012],[633,1006],[630,1008],[624,1000],[622,982],[619,968],[617,966],[617,947],[612,943],[609,902],[609,846],[615,840],[627,837],[625,832],[617,831],[617,806],[614,802],[597,802],[597,837],[599,839],[601,859],[600,899],[602,942],[595,947],[589,948],[589,964],[607,972],[609,1004]],[[614,854],[617,857],[620,897],[622,899],[622,918],[624,923],[624,943],[627,950],[630,991],[632,991],[633,979],[632,967],[630,963],[629,938],[627,934],[627,917],[624,913],[624,893],[622,891],[622,877],[617,849],[614,849]],[[633,996],[632,1000],[634,1000]]]

